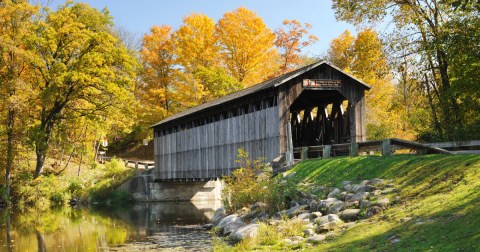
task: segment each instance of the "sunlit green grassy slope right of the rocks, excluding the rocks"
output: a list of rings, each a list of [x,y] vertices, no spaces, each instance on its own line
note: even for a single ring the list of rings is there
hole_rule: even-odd
[[[290,172],[324,185],[391,179],[400,203],[359,222],[319,251],[480,251],[480,156],[395,155],[309,160]],[[401,222],[400,219],[411,217]],[[388,239],[400,239],[391,243]]]

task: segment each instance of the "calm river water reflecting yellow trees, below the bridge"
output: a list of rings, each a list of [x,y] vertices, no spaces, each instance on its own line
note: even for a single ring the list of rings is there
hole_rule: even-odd
[[[211,239],[201,226],[215,208],[185,202],[42,213],[3,210],[0,251],[205,251]]]

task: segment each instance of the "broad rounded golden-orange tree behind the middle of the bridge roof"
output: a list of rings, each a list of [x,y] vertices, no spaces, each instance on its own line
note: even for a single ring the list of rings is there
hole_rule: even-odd
[[[225,13],[216,35],[223,64],[242,85],[256,84],[277,70],[275,34],[254,12],[241,7]]]

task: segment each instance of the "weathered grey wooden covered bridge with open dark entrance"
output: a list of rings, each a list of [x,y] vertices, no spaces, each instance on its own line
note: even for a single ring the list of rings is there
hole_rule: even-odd
[[[204,180],[238,167],[237,150],[270,162],[294,147],[365,141],[365,90],[317,62],[153,125],[155,179]]]

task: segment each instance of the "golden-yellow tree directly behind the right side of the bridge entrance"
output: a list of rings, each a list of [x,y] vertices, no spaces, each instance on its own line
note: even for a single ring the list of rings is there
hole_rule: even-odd
[[[399,121],[392,113],[394,86],[377,33],[365,29],[355,38],[345,31],[332,40],[328,52],[329,61],[372,86],[365,98],[367,137],[381,139],[395,136]]]

